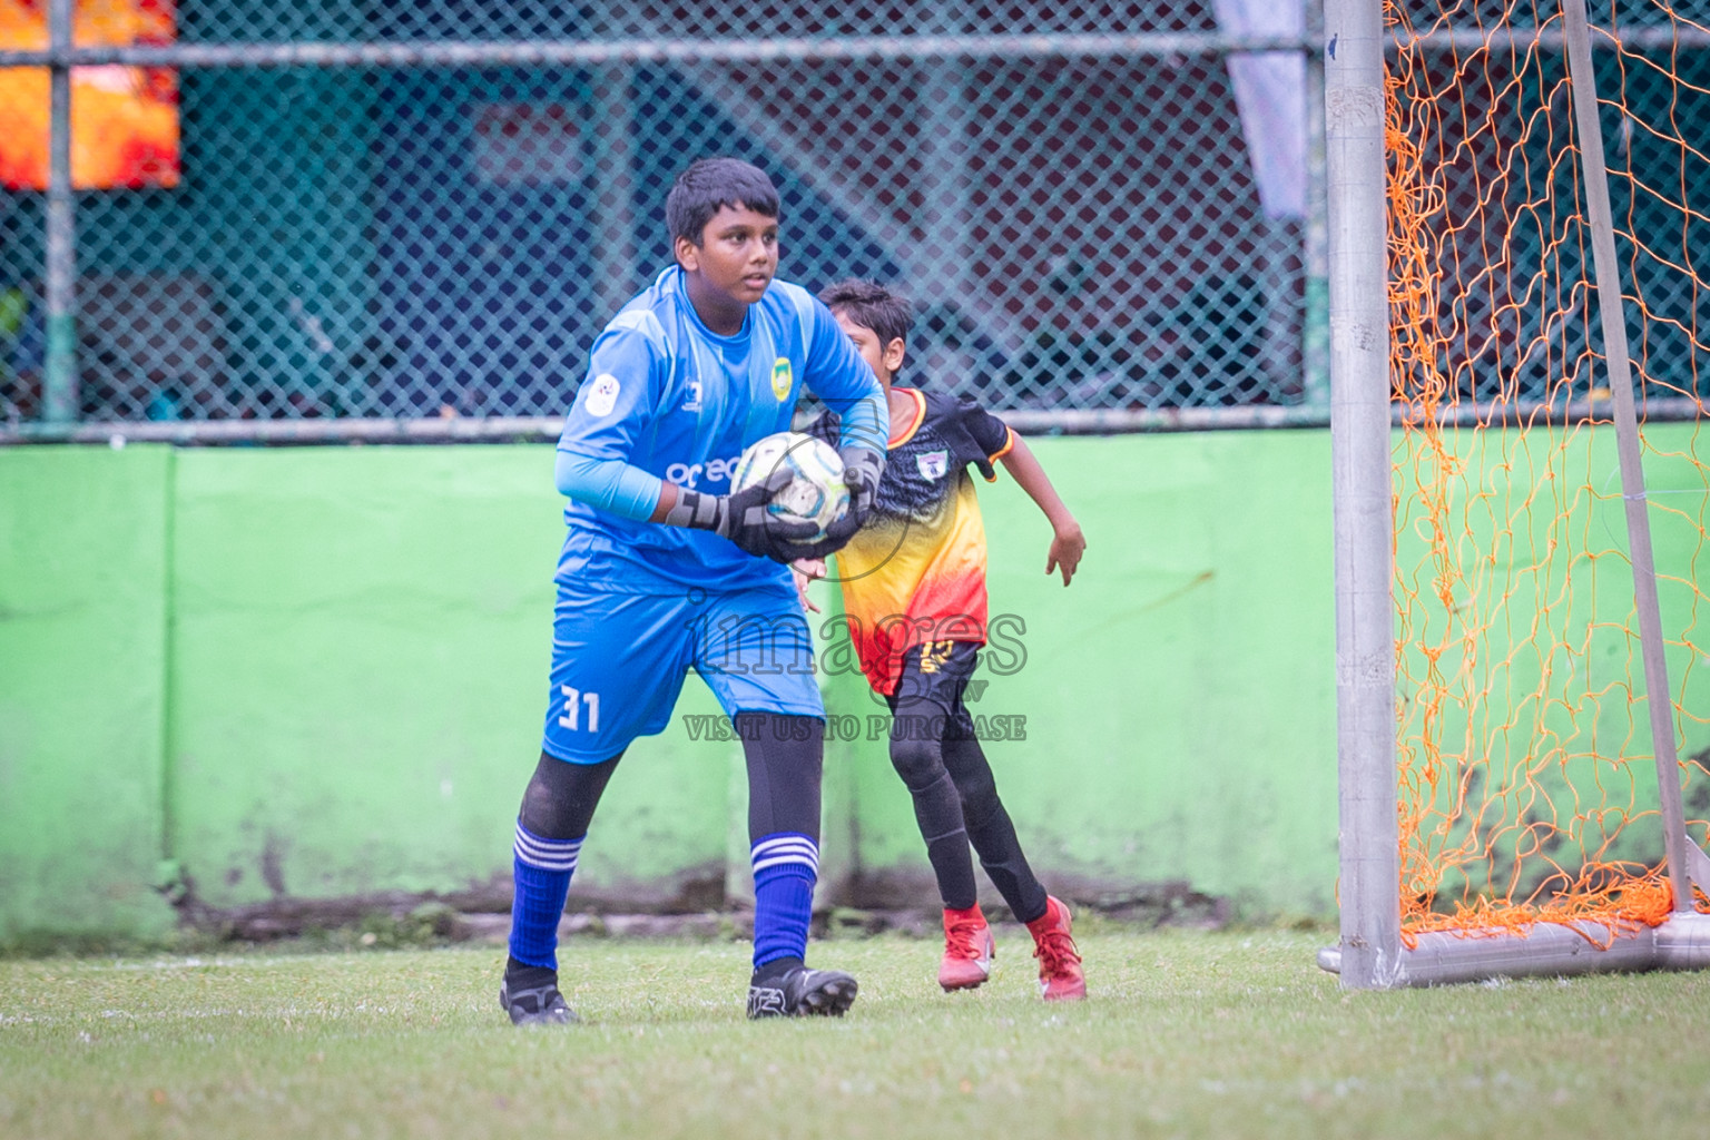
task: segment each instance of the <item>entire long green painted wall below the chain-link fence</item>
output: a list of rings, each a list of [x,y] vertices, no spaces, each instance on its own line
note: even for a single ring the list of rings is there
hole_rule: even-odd
[[[1691,427],[1652,444],[1684,455]],[[982,487],[992,614],[1024,631],[975,708],[1026,718],[988,755],[1043,877],[1330,914],[1329,436],[1033,448],[1089,549],[1074,586],[1047,579],[1036,508]],[[0,935],[159,930],[162,858],[217,908],[503,899],[544,714],[551,456],[0,450]],[[1691,581],[1696,540],[1659,526],[1659,566]],[[882,711],[858,677],[823,684],[831,711]],[[679,713],[713,711],[691,679]],[[739,749],[679,718],[624,761],[578,897],[742,890],[742,803]],[[833,897],[923,890],[882,740],[828,747],[824,846]]]

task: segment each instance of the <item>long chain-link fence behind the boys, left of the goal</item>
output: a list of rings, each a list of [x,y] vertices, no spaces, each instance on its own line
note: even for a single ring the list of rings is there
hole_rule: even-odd
[[[1265,34],[1200,0],[166,7],[166,43],[80,36],[60,56],[171,68],[180,176],[75,193],[58,417],[51,193],[0,191],[14,434],[552,434],[592,338],[670,256],[672,178],[706,154],[778,183],[781,277],[915,299],[915,383],[1045,426],[1324,417],[1300,19]],[[1241,60],[1282,77],[1241,89]]]

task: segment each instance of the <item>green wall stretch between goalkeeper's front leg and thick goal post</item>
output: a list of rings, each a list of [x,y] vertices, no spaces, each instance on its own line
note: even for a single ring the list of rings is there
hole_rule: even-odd
[[[1026,716],[1026,742],[987,755],[1029,858],[1112,892],[1185,880],[1265,911],[1334,913],[1329,436],[1031,446],[1088,552],[1070,586],[1047,579],[1043,514],[1009,480],[982,487],[992,614],[1026,624],[1026,661],[982,667],[975,708]],[[864,870],[915,868],[923,885],[884,745],[858,764]]]

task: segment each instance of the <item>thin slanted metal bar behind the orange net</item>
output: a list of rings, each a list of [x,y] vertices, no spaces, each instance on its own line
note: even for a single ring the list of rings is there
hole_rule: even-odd
[[[1626,506],[1626,544],[1633,562],[1633,608],[1638,610],[1638,644],[1645,661],[1645,704],[1650,708],[1652,752],[1657,755],[1657,798],[1662,805],[1662,844],[1669,860],[1674,909],[1691,911],[1686,872],[1686,814],[1681,808],[1681,766],[1674,752],[1674,701],[1669,667],[1662,656],[1662,610],[1657,605],[1657,567],[1650,552],[1650,516],[1645,502],[1645,465],[1638,451],[1638,415],[1633,410],[1633,366],[1626,349],[1626,313],[1621,301],[1621,267],[1614,253],[1614,219],[1609,210],[1609,171],[1604,164],[1602,123],[1597,121],[1597,79],[1592,73],[1590,29],[1585,0],[1561,0],[1568,41],[1568,79],[1573,82],[1573,121],[1580,135],[1585,173],[1585,209],[1592,226],[1592,267],[1597,273],[1597,311],[1602,318],[1604,364],[1614,400],[1616,450],[1621,456],[1621,499]]]

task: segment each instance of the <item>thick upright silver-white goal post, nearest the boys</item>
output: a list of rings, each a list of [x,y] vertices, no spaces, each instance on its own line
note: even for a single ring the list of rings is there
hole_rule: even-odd
[[[1400,981],[1380,0],[1325,0],[1341,979]]]

